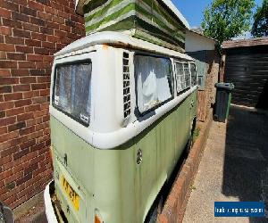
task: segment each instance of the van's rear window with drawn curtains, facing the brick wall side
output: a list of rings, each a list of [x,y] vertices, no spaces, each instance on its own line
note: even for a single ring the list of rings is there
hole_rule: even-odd
[[[90,61],[63,63],[55,67],[53,105],[88,126],[91,105]]]

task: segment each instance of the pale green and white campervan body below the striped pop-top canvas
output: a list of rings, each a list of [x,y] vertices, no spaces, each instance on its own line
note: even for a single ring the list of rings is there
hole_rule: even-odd
[[[153,222],[196,123],[193,59],[100,31],[55,54],[51,83],[48,222]]]

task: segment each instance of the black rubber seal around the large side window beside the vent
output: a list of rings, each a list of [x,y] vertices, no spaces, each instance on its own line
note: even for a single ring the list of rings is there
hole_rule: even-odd
[[[137,79],[137,75],[136,75],[136,66],[135,66],[135,64],[136,64],[136,56],[138,56],[138,55],[167,59],[170,62],[170,65],[171,65],[172,83],[170,83],[170,81],[169,81],[169,87],[170,87],[170,90],[172,90],[172,96],[169,99],[163,101],[162,103],[159,103],[159,104],[155,105],[154,107],[148,109],[147,111],[143,111],[143,112],[139,111],[139,108],[138,108],[138,89],[137,89],[137,87],[138,87],[138,85],[137,85],[138,79]],[[175,82],[174,82],[174,70],[173,70],[173,66],[172,66],[172,59],[170,57],[167,57],[167,56],[138,52],[138,53],[134,53],[134,55],[133,55],[133,63],[134,63],[134,78],[135,78],[135,99],[136,99],[136,109],[135,110],[136,110],[136,112],[138,112],[138,117],[144,117],[148,113],[151,113],[152,111],[155,111],[159,107],[163,106],[163,104],[168,103],[168,102],[170,102],[170,101],[172,101],[174,99],[174,95],[175,95],[174,94],[174,85],[175,85]]]

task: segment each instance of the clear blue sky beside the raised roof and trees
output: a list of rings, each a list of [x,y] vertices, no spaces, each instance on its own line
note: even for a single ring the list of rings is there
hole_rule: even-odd
[[[191,28],[201,26],[205,7],[212,3],[212,0],[172,0],[180,12],[188,21]],[[263,0],[255,0],[255,4],[261,5]]]

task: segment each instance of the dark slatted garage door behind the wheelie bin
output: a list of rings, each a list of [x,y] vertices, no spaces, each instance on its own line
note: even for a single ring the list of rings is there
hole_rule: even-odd
[[[232,103],[268,109],[268,46],[227,49],[224,81],[235,85]]]

